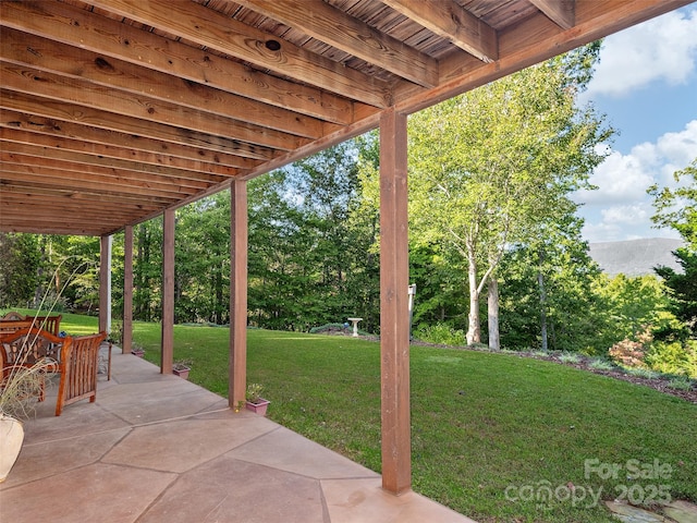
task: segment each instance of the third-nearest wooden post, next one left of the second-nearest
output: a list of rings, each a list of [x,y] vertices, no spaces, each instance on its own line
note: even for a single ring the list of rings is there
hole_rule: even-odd
[[[173,209],[164,210],[162,223],[161,374],[172,374],[174,358],[174,214]]]

